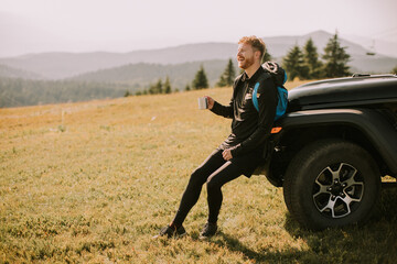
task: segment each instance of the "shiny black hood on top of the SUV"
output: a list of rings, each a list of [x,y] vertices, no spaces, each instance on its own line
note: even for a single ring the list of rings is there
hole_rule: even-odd
[[[397,76],[313,81],[290,90],[288,100],[288,111],[397,102]]]

